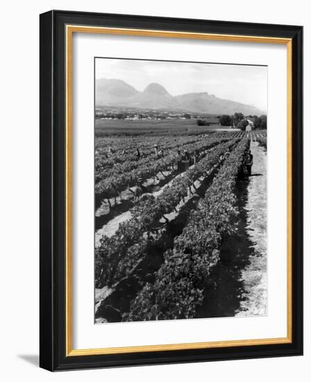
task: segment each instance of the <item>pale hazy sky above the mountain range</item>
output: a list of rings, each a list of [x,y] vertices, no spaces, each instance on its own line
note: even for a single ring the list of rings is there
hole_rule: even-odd
[[[117,78],[137,90],[149,83],[172,95],[208,92],[267,111],[267,67],[96,58],[96,78]]]

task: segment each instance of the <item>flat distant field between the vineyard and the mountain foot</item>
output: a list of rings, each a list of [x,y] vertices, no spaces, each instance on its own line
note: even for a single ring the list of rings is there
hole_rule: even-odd
[[[124,121],[121,119],[96,119],[95,135],[181,135],[199,134],[221,128],[220,125],[197,126],[196,119],[143,119],[142,121]]]

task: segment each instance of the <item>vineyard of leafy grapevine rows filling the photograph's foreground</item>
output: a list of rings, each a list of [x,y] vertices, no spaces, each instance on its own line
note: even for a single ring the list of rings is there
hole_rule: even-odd
[[[246,236],[250,147],[265,155],[266,132],[96,137],[96,322],[212,317],[224,244]]]

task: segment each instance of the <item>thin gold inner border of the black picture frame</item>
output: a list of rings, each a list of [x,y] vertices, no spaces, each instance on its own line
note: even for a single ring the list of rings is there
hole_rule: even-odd
[[[157,344],[133,347],[107,347],[98,349],[72,348],[72,38],[74,33],[101,33],[161,38],[184,38],[229,42],[255,42],[287,45],[287,337],[254,340],[230,340],[218,342],[190,342],[181,344]],[[92,356],[101,354],[126,354],[145,351],[170,351],[185,349],[212,349],[265,344],[292,343],[292,39],[265,36],[224,35],[157,31],[135,28],[110,28],[99,26],[67,25],[66,41],[66,356]]]

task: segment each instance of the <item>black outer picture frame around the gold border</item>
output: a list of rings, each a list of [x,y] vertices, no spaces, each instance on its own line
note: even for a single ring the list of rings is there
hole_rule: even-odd
[[[66,356],[67,24],[292,39],[292,342]],[[40,15],[40,367],[51,371],[303,354],[303,27],[51,10]]]

